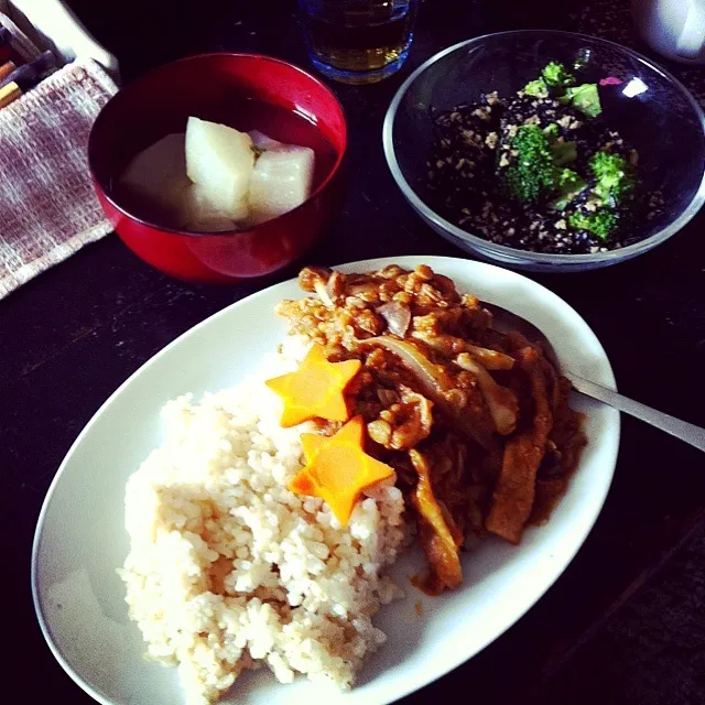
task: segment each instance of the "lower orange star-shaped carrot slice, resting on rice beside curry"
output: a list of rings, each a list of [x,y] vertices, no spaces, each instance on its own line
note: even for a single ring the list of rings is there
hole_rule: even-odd
[[[344,527],[362,490],[394,473],[365,453],[362,416],[348,421],[334,436],[303,433],[301,442],[306,465],[289,482],[289,489],[321,497]]]

